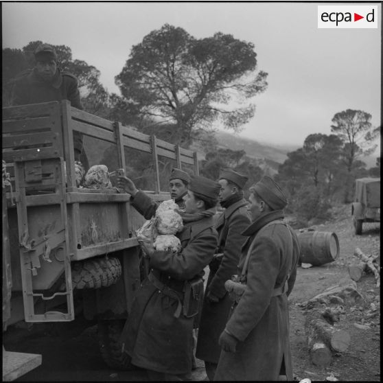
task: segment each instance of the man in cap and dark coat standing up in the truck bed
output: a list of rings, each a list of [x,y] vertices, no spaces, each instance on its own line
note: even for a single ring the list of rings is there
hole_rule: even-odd
[[[35,67],[23,71],[14,80],[11,105],[69,100],[71,106],[82,109],[78,80],[71,73],[61,71],[58,67],[54,47],[48,44],[38,45],[34,51],[34,58],[36,60]],[[74,131],[73,141],[75,161],[81,161],[84,167],[88,169],[88,160],[82,150],[82,135]]]

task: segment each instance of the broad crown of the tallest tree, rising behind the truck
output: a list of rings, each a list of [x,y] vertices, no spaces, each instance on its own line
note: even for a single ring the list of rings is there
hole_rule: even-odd
[[[248,99],[266,89],[254,45],[230,34],[196,39],[181,27],[165,24],[132,47],[116,83],[139,114],[172,121],[177,142],[189,146],[198,133],[220,118],[240,130],[254,115]],[[239,108],[229,107],[231,101]]]

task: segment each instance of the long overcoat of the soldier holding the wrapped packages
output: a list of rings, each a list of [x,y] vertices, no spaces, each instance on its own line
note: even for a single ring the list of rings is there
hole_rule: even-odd
[[[152,273],[181,299],[185,281],[202,277],[213,257],[218,242],[213,224],[212,217],[184,223],[177,234],[181,252],[154,251],[150,257]],[[149,279],[143,281],[121,335],[133,364],[161,373],[191,371],[194,317],[181,313],[176,318],[177,307],[176,299],[160,292]]]

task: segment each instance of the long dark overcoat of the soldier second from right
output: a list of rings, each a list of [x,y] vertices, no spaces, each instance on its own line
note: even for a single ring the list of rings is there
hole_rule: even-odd
[[[222,261],[218,262],[213,259],[209,264],[210,272],[202,306],[196,349],[196,357],[207,362],[218,363],[220,359],[221,347],[218,345],[218,339],[227,323],[232,303],[224,288],[224,283],[237,272],[241,248],[246,240],[241,233],[250,224],[246,205],[247,202],[243,199],[233,203],[221,213],[216,222],[217,253],[223,253],[223,256]],[[218,303],[209,303],[207,300],[209,291],[220,298]]]

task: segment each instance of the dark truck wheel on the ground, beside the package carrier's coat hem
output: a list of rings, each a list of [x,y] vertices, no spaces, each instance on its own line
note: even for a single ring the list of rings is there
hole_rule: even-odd
[[[122,345],[119,341],[125,319],[113,321],[99,321],[97,326],[98,344],[102,359],[112,369],[135,370],[138,367],[130,362],[130,356],[122,352]]]

